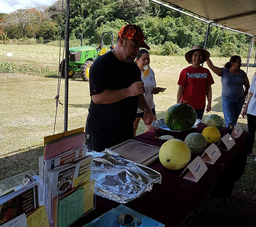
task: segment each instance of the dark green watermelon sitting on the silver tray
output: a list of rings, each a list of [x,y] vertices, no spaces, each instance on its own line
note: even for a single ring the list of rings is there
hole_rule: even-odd
[[[196,122],[196,111],[185,103],[175,104],[166,111],[164,123],[173,131],[189,129]]]

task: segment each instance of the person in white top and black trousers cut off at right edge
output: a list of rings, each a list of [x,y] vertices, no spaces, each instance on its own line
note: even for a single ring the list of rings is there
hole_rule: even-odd
[[[253,155],[253,145],[256,132],[256,76],[254,75],[249,88],[249,98],[241,111],[243,118],[247,117],[248,137],[246,142],[247,155]]]

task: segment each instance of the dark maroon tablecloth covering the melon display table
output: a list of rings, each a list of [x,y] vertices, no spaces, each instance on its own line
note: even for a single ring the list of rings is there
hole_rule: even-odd
[[[168,134],[184,141],[187,134],[191,132],[201,133],[204,128],[205,125],[200,123],[196,129],[179,133],[168,132]],[[228,129],[221,128],[220,132],[221,137],[223,137]],[[160,141],[155,136],[160,136],[160,134],[153,129],[134,137],[134,140],[160,147],[165,141]],[[197,183],[180,177],[184,169],[168,170],[159,160],[155,161],[149,167],[162,174],[162,184],[154,184],[151,192],[147,192],[125,205],[162,222],[166,226],[176,227],[182,223],[183,225],[187,224],[203,208],[209,197],[230,196],[234,183],[241,178],[245,170],[247,153],[244,143],[246,138],[247,132],[244,131],[240,138],[235,140],[236,145],[232,149],[229,151],[220,150],[221,157],[214,165],[207,164],[207,172]],[[196,157],[197,155],[192,155],[191,161]],[[118,205],[114,201],[97,196],[96,209],[72,226],[82,226]]]

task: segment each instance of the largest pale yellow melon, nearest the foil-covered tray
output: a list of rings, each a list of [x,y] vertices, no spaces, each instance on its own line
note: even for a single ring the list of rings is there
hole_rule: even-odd
[[[166,141],[159,150],[159,159],[164,167],[179,170],[187,166],[191,151],[185,142],[177,139]]]

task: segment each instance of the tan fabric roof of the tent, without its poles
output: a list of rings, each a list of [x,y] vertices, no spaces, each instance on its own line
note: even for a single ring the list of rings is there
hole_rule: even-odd
[[[166,0],[210,22],[256,36],[255,0]]]

